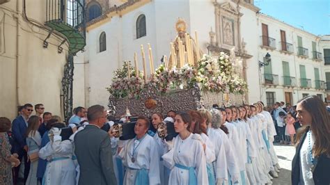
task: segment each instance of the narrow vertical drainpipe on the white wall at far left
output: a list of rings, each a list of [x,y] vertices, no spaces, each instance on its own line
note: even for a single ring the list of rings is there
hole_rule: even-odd
[[[19,7],[21,6],[19,4],[20,1],[16,1],[16,107],[19,106],[19,37],[20,37],[20,26],[19,22],[21,22],[21,16],[19,13],[21,12]]]

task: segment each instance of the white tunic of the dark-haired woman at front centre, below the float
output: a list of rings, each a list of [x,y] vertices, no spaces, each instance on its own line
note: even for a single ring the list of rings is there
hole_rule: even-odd
[[[164,154],[162,158],[164,165],[171,169],[168,184],[189,184],[189,170],[178,168],[175,163],[195,168],[197,184],[208,184],[203,145],[200,140],[195,139],[194,134],[190,134],[184,140],[180,136],[173,138],[173,149]]]

